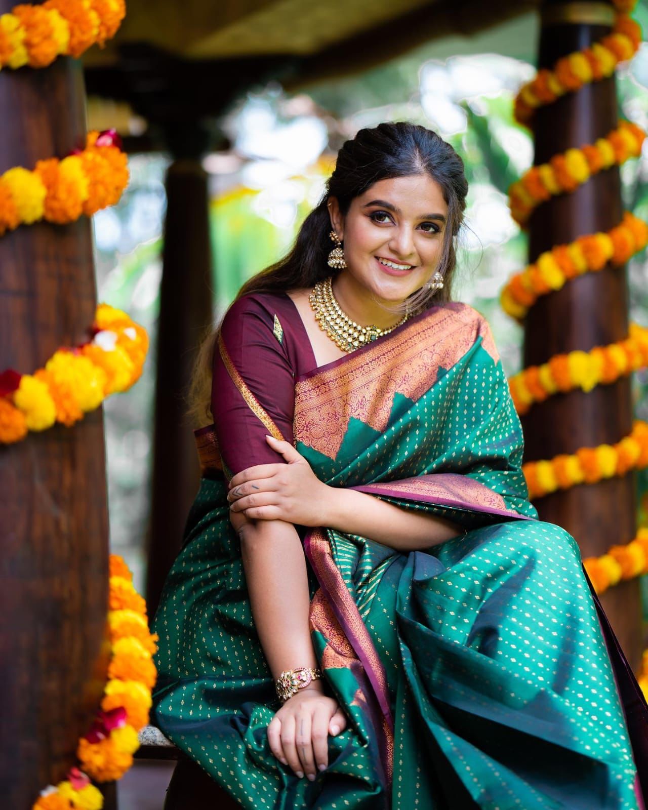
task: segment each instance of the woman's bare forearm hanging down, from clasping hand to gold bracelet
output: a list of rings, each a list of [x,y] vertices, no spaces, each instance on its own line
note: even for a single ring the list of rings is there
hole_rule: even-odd
[[[239,536],[254,625],[272,676],[317,667],[310,640],[306,561],[295,527],[281,520],[258,520]]]

